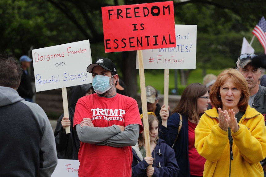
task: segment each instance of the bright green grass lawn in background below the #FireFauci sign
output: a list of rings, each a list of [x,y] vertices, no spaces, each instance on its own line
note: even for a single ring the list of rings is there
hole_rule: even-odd
[[[220,74],[222,70],[206,70],[207,74]],[[159,72],[156,70],[145,70],[145,84],[154,86],[159,94],[164,94],[164,70],[160,70]],[[202,69],[193,69],[189,75],[188,83],[200,82],[203,80]],[[138,88],[140,93],[140,84],[139,84],[139,75],[138,75]],[[178,95],[181,95],[182,91],[185,89],[187,85],[181,85],[180,83],[180,75],[177,76],[177,90]],[[171,94],[171,90],[175,88],[175,70],[169,70],[169,94]]]

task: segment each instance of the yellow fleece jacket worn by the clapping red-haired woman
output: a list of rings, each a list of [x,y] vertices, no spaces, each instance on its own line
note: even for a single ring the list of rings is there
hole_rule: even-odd
[[[195,147],[207,159],[203,177],[264,177],[260,161],[266,157],[264,117],[247,107],[239,130],[231,131],[232,157],[228,130],[219,127],[216,108],[205,111],[195,129]]]

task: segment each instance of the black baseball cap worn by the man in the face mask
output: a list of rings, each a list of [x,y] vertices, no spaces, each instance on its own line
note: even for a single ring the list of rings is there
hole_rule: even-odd
[[[103,69],[107,71],[112,71],[114,72],[114,74],[117,74],[116,66],[109,58],[104,58],[104,57],[98,58],[96,62],[90,64],[87,67],[87,72],[92,73],[92,69],[94,68],[94,66],[101,66]]]

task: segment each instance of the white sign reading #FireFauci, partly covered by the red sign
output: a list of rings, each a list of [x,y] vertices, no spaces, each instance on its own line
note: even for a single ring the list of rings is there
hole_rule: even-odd
[[[144,69],[195,69],[197,25],[175,25],[176,46],[143,50]],[[139,69],[138,56],[136,69]]]

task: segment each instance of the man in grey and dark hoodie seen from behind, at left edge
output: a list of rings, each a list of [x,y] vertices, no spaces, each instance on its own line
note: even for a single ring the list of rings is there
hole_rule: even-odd
[[[56,144],[44,110],[16,91],[22,74],[14,57],[0,54],[0,176],[51,176]]]

